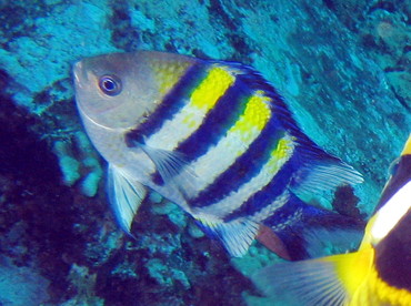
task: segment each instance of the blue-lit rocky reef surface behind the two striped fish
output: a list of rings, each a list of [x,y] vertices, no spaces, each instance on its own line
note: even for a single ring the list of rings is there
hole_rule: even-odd
[[[272,305],[231,258],[152,193],[116,225],[106,164],[81,126],[72,64],[158,50],[252,65],[302,130],[364,175],[325,194],[367,218],[411,128],[411,1],[0,1],[0,305]],[[332,249],[332,246],[330,246]]]

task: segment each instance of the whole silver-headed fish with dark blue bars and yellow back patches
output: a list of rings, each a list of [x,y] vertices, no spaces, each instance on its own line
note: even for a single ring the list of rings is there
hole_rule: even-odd
[[[73,75],[78,111],[108,162],[108,198],[126,233],[149,191],[178,204],[231,256],[258,239],[281,257],[305,258],[305,226],[361,231],[301,200],[362,175],[305,135],[254,69],[137,51],[84,58]]]

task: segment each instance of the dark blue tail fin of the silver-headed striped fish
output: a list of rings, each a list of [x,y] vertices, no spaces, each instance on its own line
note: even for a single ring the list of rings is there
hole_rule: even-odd
[[[264,236],[258,239],[279,256],[299,261],[355,248],[365,223],[334,212],[310,206],[291,194],[289,202],[264,220]],[[273,232],[275,249],[271,247],[267,227]],[[279,245],[278,241],[282,242]],[[280,252],[279,252],[280,249]]]

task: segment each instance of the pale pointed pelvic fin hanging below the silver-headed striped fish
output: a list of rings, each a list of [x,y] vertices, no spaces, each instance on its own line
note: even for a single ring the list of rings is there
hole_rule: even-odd
[[[109,164],[107,190],[117,222],[131,235],[131,223],[146,197],[147,188],[121,169]]]

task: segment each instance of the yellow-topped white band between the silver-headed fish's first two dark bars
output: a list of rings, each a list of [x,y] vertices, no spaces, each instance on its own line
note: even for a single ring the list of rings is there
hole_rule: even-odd
[[[158,149],[174,150],[180,142],[196,132],[209,111],[234,81],[235,76],[223,68],[211,68],[187,99],[187,104],[171,120],[166,121],[160,131],[149,137],[147,144]]]

